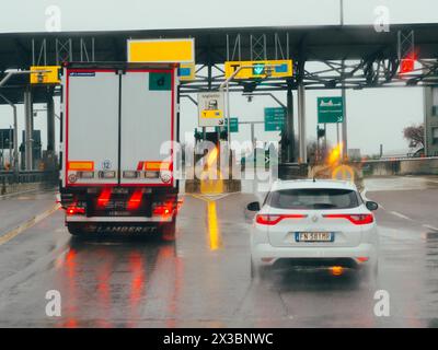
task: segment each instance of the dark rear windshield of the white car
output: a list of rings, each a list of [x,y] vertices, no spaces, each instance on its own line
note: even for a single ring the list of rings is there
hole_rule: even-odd
[[[356,191],[337,188],[296,188],[272,191],[269,207],[278,209],[348,209],[359,206]]]

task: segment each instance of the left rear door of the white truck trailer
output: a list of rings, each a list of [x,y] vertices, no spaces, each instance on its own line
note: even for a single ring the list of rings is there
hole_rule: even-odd
[[[66,185],[115,186],[118,182],[119,75],[115,69],[67,69],[65,75]],[[103,176],[111,172],[114,177]],[[81,174],[88,176],[81,177]]]

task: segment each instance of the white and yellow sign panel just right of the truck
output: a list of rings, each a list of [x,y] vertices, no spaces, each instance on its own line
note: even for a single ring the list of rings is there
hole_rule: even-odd
[[[224,125],[223,92],[208,92],[198,94],[198,126],[221,127]]]

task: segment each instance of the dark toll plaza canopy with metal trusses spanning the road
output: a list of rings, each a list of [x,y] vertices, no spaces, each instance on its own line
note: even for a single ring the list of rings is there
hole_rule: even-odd
[[[65,61],[126,61],[129,38],[184,38],[196,43],[197,79],[183,90],[215,90],[224,80],[227,60],[292,59],[293,78],[239,81],[233,90],[252,92],[297,89],[347,89],[430,85],[438,82],[438,23],[391,25],[378,32],[372,25],[300,27],[230,27],[195,30],[53,32],[0,34],[0,71]],[[400,74],[404,59],[415,59]],[[310,62],[318,62],[311,63]],[[1,79],[1,77],[0,77]],[[14,103],[23,101],[28,75],[14,75],[0,92]],[[34,88],[34,102],[53,88]],[[4,103],[1,101],[0,103]]]

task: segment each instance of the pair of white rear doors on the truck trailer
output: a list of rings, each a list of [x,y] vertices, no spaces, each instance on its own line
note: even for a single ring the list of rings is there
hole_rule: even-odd
[[[173,69],[67,69],[65,79],[67,187],[174,185]]]

